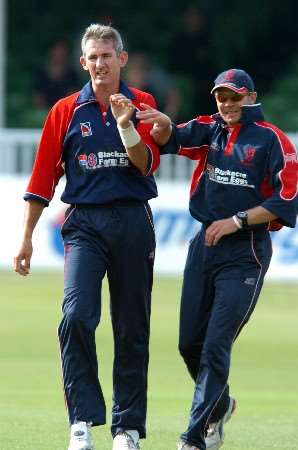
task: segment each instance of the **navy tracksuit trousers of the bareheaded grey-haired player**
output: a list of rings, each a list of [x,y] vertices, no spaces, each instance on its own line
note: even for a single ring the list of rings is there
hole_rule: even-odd
[[[65,245],[63,319],[58,329],[69,421],[106,422],[95,330],[107,274],[114,335],[112,434],[145,437],[150,305],[155,252],[147,203],[72,207]]]

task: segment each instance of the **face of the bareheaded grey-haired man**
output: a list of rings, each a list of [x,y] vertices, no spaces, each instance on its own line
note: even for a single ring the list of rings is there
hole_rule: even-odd
[[[91,77],[93,89],[119,82],[120,69],[127,62],[127,53],[117,55],[112,40],[89,39],[85,54],[81,56],[81,65]]]

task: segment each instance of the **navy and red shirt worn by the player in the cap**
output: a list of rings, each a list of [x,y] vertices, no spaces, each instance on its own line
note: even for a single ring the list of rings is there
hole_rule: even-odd
[[[281,130],[264,121],[259,104],[244,106],[241,122],[233,128],[219,114],[174,125],[161,152],[198,161],[190,212],[203,224],[262,206],[278,217],[272,229],[295,226],[296,149]]]

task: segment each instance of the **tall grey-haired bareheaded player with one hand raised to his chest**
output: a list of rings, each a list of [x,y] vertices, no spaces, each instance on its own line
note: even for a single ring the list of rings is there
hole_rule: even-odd
[[[65,278],[58,333],[69,450],[93,450],[91,427],[106,423],[95,346],[105,274],[115,349],[113,450],[138,449],[139,438],[146,436],[155,254],[148,200],[157,196],[152,174],[159,151],[152,126],[135,114],[141,102],[155,107],[154,98],[120,79],[127,59],[116,29],[101,24],[86,29],[80,62],[90,81],[48,114],[24,196],[23,239],[14,260],[16,272],[26,276],[33,230],[65,174],[61,199],[70,206],[62,226]]]

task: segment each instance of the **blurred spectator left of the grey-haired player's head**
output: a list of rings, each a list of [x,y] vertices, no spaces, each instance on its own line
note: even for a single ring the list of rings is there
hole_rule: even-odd
[[[79,77],[71,67],[67,41],[54,42],[48,50],[45,67],[34,76],[34,106],[48,111],[60,98],[76,91],[79,86]]]

